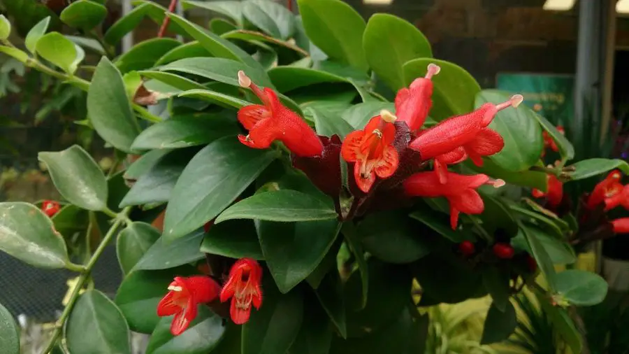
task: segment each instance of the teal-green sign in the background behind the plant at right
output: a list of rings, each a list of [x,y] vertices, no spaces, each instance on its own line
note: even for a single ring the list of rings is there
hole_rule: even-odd
[[[555,125],[567,125],[572,119],[572,75],[498,73],[496,88],[523,94],[524,103]]]

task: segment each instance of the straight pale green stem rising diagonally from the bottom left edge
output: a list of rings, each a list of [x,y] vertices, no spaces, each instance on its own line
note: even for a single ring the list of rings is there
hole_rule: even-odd
[[[120,215],[126,218],[126,215],[129,214],[129,211],[131,211],[131,207],[127,206],[126,208],[122,210]],[[79,293],[81,289],[83,288],[83,285],[85,285],[85,283],[89,279],[89,274],[92,272],[92,268],[94,268],[94,264],[96,264],[96,261],[99,260],[99,257],[101,257],[101,255],[103,254],[103,251],[107,247],[108,243],[113,239],[113,236],[115,236],[116,230],[118,229],[118,227],[120,227],[120,224],[122,224],[122,222],[124,222],[124,218],[116,219],[114,224],[111,225],[109,231],[103,238],[103,241],[101,241],[101,244],[99,244],[99,247],[96,248],[96,250],[94,251],[94,255],[92,255],[92,257],[89,259],[89,262],[85,264],[85,271],[83,271],[82,274],[79,276],[78,281],[76,282],[75,288],[72,290],[72,294],[70,295],[70,300],[68,301],[68,304],[66,305],[66,308],[64,309],[64,312],[62,313],[62,316],[59,317],[59,320],[57,320],[57,323],[55,324],[55,330],[52,332],[52,336],[50,337],[48,346],[46,346],[46,348],[42,352],[43,354],[48,354],[50,353],[50,351],[52,351],[53,348],[55,348],[55,344],[57,343],[57,339],[59,339],[59,335],[62,332],[64,323],[66,323],[68,316],[70,316],[72,309],[74,309],[74,305],[76,304],[76,300],[78,299]]]

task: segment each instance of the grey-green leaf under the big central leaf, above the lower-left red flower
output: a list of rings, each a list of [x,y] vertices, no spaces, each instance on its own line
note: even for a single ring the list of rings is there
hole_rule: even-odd
[[[204,235],[203,229],[198,229],[172,242],[160,237],[138,260],[133,271],[168,269],[203,259],[198,247]]]

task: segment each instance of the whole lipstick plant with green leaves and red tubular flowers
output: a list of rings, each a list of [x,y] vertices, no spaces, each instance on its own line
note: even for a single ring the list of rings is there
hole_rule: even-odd
[[[99,1],[73,1],[60,19],[106,52],[142,17],[160,24],[96,68],[48,20],[16,48],[2,18],[0,51],[87,91],[82,124],[117,158],[103,174],[79,146],[39,153],[63,200],[0,204],[1,250],[79,274],[45,353],[130,353],[131,331],[151,335],[147,353],[421,353],[426,306],[491,296],[493,343],[513,334],[523,287],[580,353],[572,306],[607,285],[557,273],[575,260],[574,222],[510,196],[559,208],[558,185],[625,162],[566,167],[574,149],[526,97],[481,90],[399,17],[366,22],[339,0],[299,0],[299,15],[182,3],[220,17],[205,28],[136,1],[101,36]],[[544,146],[561,154],[552,167]],[[588,205],[627,204],[620,173]],[[90,271],[113,244],[124,280],[110,299]]]

